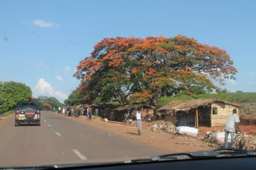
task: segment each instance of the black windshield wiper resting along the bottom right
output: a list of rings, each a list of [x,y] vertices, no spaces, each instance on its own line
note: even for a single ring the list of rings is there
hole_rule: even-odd
[[[148,159],[126,160],[124,163],[132,162],[152,162],[162,160],[181,160],[181,159],[204,159],[211,157],[238,157],[238,156],[256,156],[256,150],[240,150],[233,148],[221,148],[217,150],[205,150],[188,153],[173,153],[168,155],[154,156]]]

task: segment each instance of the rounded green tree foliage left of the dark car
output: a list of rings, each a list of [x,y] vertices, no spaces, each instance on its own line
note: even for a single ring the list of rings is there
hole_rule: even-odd
[[[24,83],[6,81],[0,83],[0,97],[6,103],[0,106],[0,113],[16,108],[20,103],[29,102],[32,91]]]

